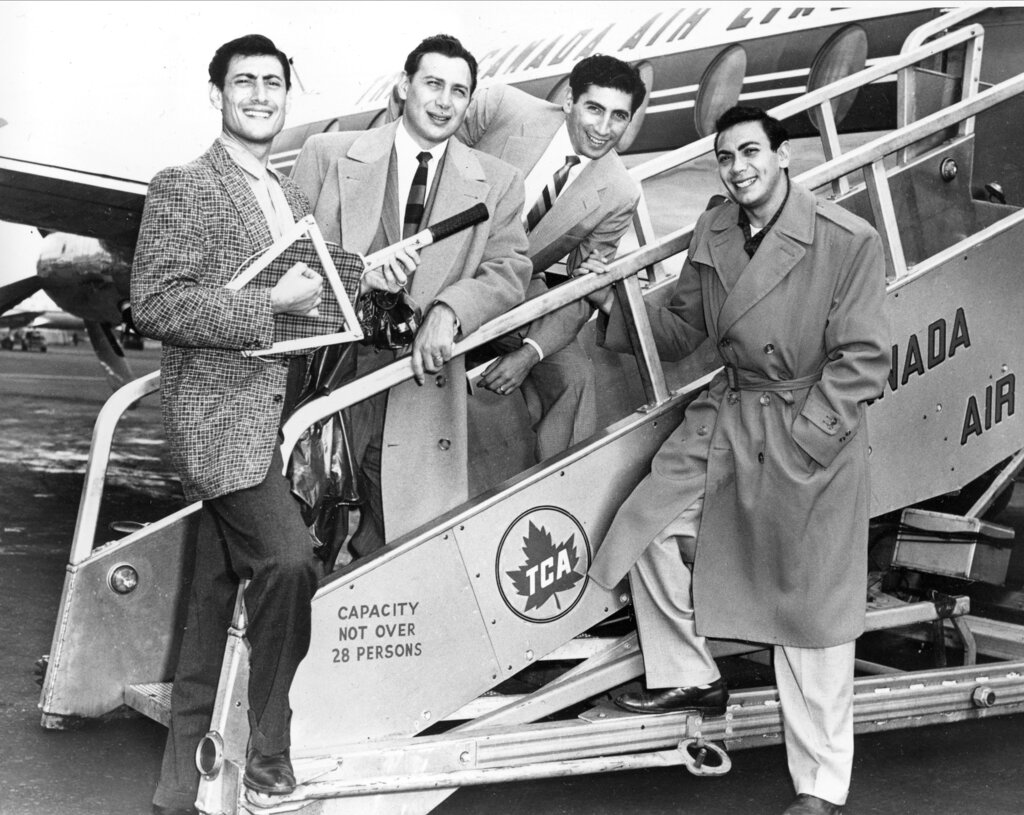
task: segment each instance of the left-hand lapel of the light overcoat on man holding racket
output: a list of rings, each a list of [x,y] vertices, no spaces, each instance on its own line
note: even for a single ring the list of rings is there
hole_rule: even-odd
[[[352,142],[345,160],[338,162],[338,186],[341,189],[341,234],[345,248],[350,252],[365,253],[373,243],[384,210],[391,148],[397,122],[368,130]],[[397,217],[397,212],[391,213]],[[384,219],[385,235],[389,244],[397,235],[394,218]]]

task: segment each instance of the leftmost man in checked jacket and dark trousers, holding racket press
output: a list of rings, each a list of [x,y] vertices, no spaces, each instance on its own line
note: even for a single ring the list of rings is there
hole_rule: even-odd
[[[217,50],[210,99],[221,112],[221,135],[196,161],[153,179],[132,267],[135,324],[163,341],[162,403],[174,466],[185,498],[204,502],[157,813],[196,811],[196,746],[209,729],[242,580],[249,581],[251,664],[244,781],[269,796],[295,786],[288,692],[309,643],[316,571],[282,475],[278,431],[306,357],[290,362],[242,351],[271,345],[276,315],[315,309],[323,282],[299,263],[272,289],[224,288],[308,212],[298,188],[267,164],[290,79],[287,56],[265,37]],[[357,273],[342,273],[355,296]]]

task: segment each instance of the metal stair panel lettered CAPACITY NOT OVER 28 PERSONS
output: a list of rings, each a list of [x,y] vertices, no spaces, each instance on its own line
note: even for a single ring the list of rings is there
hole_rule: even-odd
[[[443,531],[314,598],[309,652],[292,684],[292,742],[309,754],[413,734],[498,677],[462,557]]]

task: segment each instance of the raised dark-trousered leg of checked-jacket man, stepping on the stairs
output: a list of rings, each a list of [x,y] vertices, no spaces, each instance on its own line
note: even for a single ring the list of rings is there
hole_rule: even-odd
[[[208,502],[227,541],[231,564],[248,577],[250,746],[264,756],[288,749],[288,692],[309,647],[316,591],[312,541],[275,448],[264,480]]]

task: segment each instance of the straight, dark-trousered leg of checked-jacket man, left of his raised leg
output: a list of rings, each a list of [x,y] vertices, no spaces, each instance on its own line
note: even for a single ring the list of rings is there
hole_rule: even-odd
[[[238,588],[224,540],[213,514],[204,506],[200,512],[184,635],[171,690],[171,725],[160,783],[153,796],[153,803],[158,806],[188,809],[196,801],[199,791],[196,746],[210,729]]]

